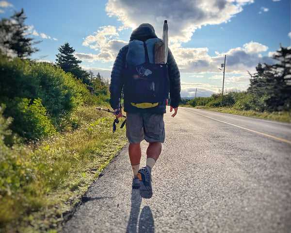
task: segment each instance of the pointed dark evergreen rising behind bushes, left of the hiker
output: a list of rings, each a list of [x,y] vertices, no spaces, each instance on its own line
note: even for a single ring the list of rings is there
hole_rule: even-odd
[[[82,70],[79,64],[82,62],[74,56],[75,50],[69,45],[68,42],[62,45],[59,49],[60,53],[57,56],[57,65],[61,67],[65,72],[70,72],[83,83],[89,84],[89,73]]]

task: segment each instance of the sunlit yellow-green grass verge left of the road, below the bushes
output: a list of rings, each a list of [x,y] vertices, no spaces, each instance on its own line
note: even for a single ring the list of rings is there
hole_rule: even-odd
[[[9,175],[0,186],[0,233],[57,232],[64,213],[127,142],[125,129],[112,133],[113,119],[82,106],[65,122],[72,129],[30,145],[3,146],[0,165]]]

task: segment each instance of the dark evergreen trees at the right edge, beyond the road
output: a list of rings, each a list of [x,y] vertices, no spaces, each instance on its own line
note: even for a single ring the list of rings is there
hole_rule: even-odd
[[[250,74],[248,92],[253,95],[253,104],[260,111],[286,111],[291,109],[291,48],[280,49],[273,58],[274,65],[260,63],[257,72]]]

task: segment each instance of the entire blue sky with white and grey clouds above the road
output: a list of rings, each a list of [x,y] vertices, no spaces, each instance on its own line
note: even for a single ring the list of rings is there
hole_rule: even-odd
[[[226,55],[225,91],[246,90],[248,71],[291,46],[290,0],[0,0],[0,16],[21,8],[39,52],[55,62],[68,42],[86,70],[110,78],[115,56],[141,23],[162,37],[168,20],[170,49],[181,73],[181,96],[210,96],[222,89],[218,68]]]

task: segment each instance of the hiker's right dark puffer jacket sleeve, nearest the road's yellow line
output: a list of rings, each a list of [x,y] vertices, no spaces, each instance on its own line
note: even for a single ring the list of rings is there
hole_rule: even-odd
[[[171,106],[177,108],[181,101],[180,72],[171,50],[168,52],[168,74],[170,80]]]

